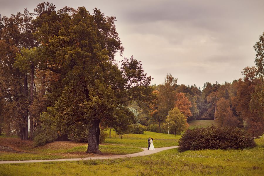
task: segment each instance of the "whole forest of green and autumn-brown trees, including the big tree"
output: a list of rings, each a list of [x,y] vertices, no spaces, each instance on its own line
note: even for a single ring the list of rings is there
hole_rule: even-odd
[[[150,85],[153,78],[136,58],[115,60],[124,50],[115,21],[97,8],[56,11],[48,2],[34,13],[0,16],[0,135],[36,145],[88,142],[88,153],[100,153],[111,129],[120,138],[176,135],[192,120],[263,135],[264,32],[253,46],[255,66],[241,70],[238,80],[200,88],[179,85],[168,73],[162,84]]]

